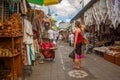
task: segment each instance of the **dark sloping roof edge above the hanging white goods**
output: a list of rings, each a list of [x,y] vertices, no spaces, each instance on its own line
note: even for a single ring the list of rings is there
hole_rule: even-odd
[[[74,16],[72,19],[71,19],[71,22],[73,20],[75,20],[76,18],[80,17],[81,15],[84,14],[85,11],[87,11],[87,9],[89,9],[95,2],[97,2],[98,0],[91,0],[82,10],[80,10],[78,12],[78,14],[76,16]]]

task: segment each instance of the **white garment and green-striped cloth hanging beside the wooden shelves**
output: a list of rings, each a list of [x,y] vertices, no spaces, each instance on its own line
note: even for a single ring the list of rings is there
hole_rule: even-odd
[[[36,52],[33,43],[33,31],[32,31],[32,24],[24,19],[24,36],[23,36],[23,43],[26,45],[27,48],[27,59],[28,65],[32,65],[32,61],[36,58]]]

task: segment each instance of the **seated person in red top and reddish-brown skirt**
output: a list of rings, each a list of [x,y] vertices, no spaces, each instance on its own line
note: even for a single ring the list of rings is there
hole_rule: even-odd
[[[53,50],[53,44],[50,42],[48,38],[44,39],[41,44],[42,54],[45,58],[51,58],[54,60],[55,58],[55,51]]]

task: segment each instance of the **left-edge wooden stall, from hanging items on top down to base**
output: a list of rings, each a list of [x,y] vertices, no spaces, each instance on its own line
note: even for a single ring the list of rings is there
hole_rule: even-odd
[[[23,24],[19,4],[18,1],[0,2],[0,80],[22,79]]]

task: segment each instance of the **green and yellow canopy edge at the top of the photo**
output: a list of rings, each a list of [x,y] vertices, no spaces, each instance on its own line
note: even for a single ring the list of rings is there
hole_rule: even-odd
[[[62,0],[28,0],[28,2],[30,2],[30,3],[41,5],[41,6],[58,4],[60,1],[62,1]]]

